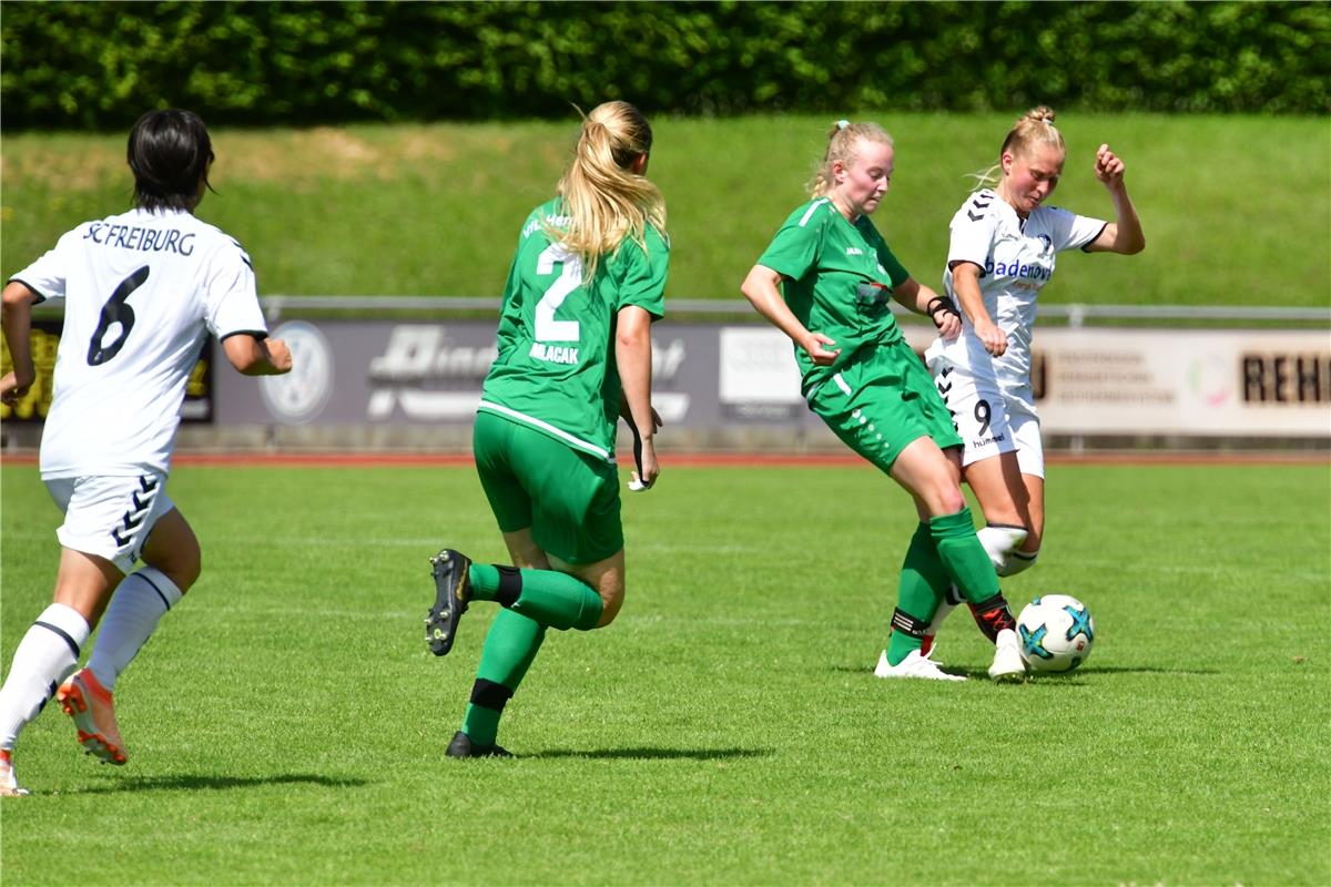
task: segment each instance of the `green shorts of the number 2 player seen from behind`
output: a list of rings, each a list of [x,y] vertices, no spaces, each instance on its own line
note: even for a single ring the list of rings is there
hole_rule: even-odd
[[[550,435],[478,412],[471,447],[499,529],[531,528],[547,555],[595,564],[624,547],[619,472]]]

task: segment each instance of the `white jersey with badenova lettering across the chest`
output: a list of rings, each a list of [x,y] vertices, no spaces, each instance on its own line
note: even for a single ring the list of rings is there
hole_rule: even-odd
[[[952,266],[978,265],[980,294],[989,318],[1008,334],[1008,351],[993,358],[964,318],[962,332],[952,342],[938,339],[930,356],[944,356],[953,367],[997,382],[1004,390],[1030,380],[1030,339],[1036,298],[1054,274],[1054,254],[1085,246],[1105,229],[1098,218],[1077,215],[1057,206],[1040,206],[1025,221],[992,189],[966,198],[952,217],[952,243],[942,285],[957,301]],[[960,303],[958,303],[960,305]]]

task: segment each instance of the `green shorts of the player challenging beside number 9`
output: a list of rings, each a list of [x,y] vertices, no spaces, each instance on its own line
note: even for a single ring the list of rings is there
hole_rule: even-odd
[[[940,449],[961,445],[929,371],[905,339],[860,348],[808,398],[836,436],[884,473],[920,438],[933,438]]]

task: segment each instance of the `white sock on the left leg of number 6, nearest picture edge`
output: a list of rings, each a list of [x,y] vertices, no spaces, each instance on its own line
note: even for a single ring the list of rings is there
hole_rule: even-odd
[[[41,612],[13,652],[0,688],[0,749],[13,749],[19,730],[73,674],[91,633],[88,621],[71,606],[52,604]]]

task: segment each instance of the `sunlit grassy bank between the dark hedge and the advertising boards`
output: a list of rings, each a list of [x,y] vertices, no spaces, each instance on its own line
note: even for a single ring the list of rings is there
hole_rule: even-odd
[[[876,218],[938,286],[948,221],[1017,113],[886,114],[897,142]],[[1091,176],[1109,142],[1127,164],[1143,254],[1071,255],[1047,303],[1331,302],[1331,126],[1315,117],[1061,114],[1069,160],[1053,202],[1111,206]],[[827,146],[821,117],[662,118],[651,176],[669,206],[671,298],[737,299],[739,285]],[[576,136],[567,122],[346,126],[214,133],[200,215],[241,239],[260,290],[286,295],[496,297],[518,227],[547,199]],[[124,134],[7,136],[0,266],[12,274],[85,218],[129,205]]]

